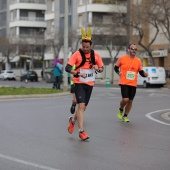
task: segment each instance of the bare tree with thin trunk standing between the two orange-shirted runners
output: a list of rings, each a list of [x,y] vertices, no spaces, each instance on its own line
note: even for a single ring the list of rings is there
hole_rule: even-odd
[[[110,20],[103,21],[103,24],[94,22],[94,42],[101,45],[109,53],[111,63],[111,84],[114,78],[114,64],[117,56],[127,44],[126,29],[122,26],[122,14],[110,13]]]

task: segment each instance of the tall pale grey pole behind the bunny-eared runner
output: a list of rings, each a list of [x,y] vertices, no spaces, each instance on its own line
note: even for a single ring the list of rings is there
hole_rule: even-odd
[[[65,71],[65,66],[68,60],[68,0],[65,0],[65,16],[64,16],[64,82],[63,90],[68,90],[68,73]]]

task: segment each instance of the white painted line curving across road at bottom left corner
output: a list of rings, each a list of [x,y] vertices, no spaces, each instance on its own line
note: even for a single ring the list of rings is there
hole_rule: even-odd
[[[3,155],[3,154],[0,154],[0,158],[8,159],[8,160],[13,161],[13,162],[25,164],[27,166],[40,168],[40,169],[43,169],[43,170],[59,170],[59,169],[51,168],[51,167],[48,167],[48,166],[43,166],[43,165],[40,165],[40,164],[35,164],[35,163],[32,163],[32,162],[27,162],[27,161],[24,161],[24,160],[21,160],[21,159],[13,158],[13,157],[6,156],[6,155]]]

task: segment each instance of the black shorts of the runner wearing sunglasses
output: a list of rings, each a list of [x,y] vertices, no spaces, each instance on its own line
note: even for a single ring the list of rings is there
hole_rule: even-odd
[[[122,98],[129,98],[129,100],[133,100],[136,94],[135,86],[128,85],[120,85]]]

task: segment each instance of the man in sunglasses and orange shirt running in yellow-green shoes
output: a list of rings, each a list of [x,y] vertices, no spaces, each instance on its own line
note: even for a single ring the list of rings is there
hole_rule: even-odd
[[[115,72],[120,76],[118,84],[121,87],[122,94],[117,117],[124,122],[130,121],[127,116],[132,108],[133,99],[136,94],[138,72],[142,77],[148,76],[148,73],[142,70],[142,62],[136,56],[136,51],[136,45],[130,44],[128,54],[121,56],[114,67]]]

